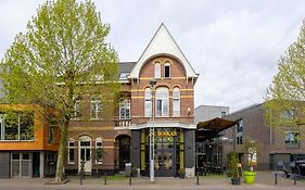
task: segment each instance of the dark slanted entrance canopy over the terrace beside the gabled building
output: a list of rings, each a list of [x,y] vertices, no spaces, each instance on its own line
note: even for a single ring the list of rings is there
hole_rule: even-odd
[[[196,141],[204,141],[219,136],[219,132],[234,126],[237,122],[226,121],[219,117],[196,125]]]

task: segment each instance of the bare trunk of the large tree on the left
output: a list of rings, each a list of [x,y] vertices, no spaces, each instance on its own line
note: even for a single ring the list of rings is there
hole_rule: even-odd
[[[64,179],[63,168],[64,168],[64,160],[65,160],[65,152],[66,152],[67,129],[68,129],[68,121],[65,121],[61,129],[61,141],[60,141],[60,150],[58,153],[58,164],[56,164],[56,174],[55,174],[56,182],[61,182]]]

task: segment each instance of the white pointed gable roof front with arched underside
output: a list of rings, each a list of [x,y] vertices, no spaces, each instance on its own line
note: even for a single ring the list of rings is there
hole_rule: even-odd
[[[145,64],[145,62],[153,56],[167,54],[171,55],[181,62],[186,69],[187,77],[198,77],[198,74],[192,68],[191,64],[174,40],[173,36],[169,34],[166,26],[162,23],[155,35],[151,39],[150,43],[145,48],[144,52],[141,54],[134,69],[131,71],[129,78],[139,78],[140,71]]]

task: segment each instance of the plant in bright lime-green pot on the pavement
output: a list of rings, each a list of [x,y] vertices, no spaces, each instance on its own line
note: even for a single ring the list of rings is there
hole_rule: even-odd
[[[254,172],[253,168],[257,165],[259,145],[254,140],[245,140],[243,143],[243,150],[245,155],[247,155],[247,170],[243,172],[244,182],[253,183],[256,178],[256,172]]]

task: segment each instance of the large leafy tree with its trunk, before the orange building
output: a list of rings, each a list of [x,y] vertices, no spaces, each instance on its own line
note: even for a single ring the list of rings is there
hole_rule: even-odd
[[[2,101],[39,104],[56,113],[61,127],[56,181],[63,179],[76,97],[99,94],[109,109],[106,118],[111,117],[110,104],[114,104],[119,86],[115,83],[117,53],[105,42],[109,33],[110,25],[102,23],[90,0],[47,1],[1,61]]]

